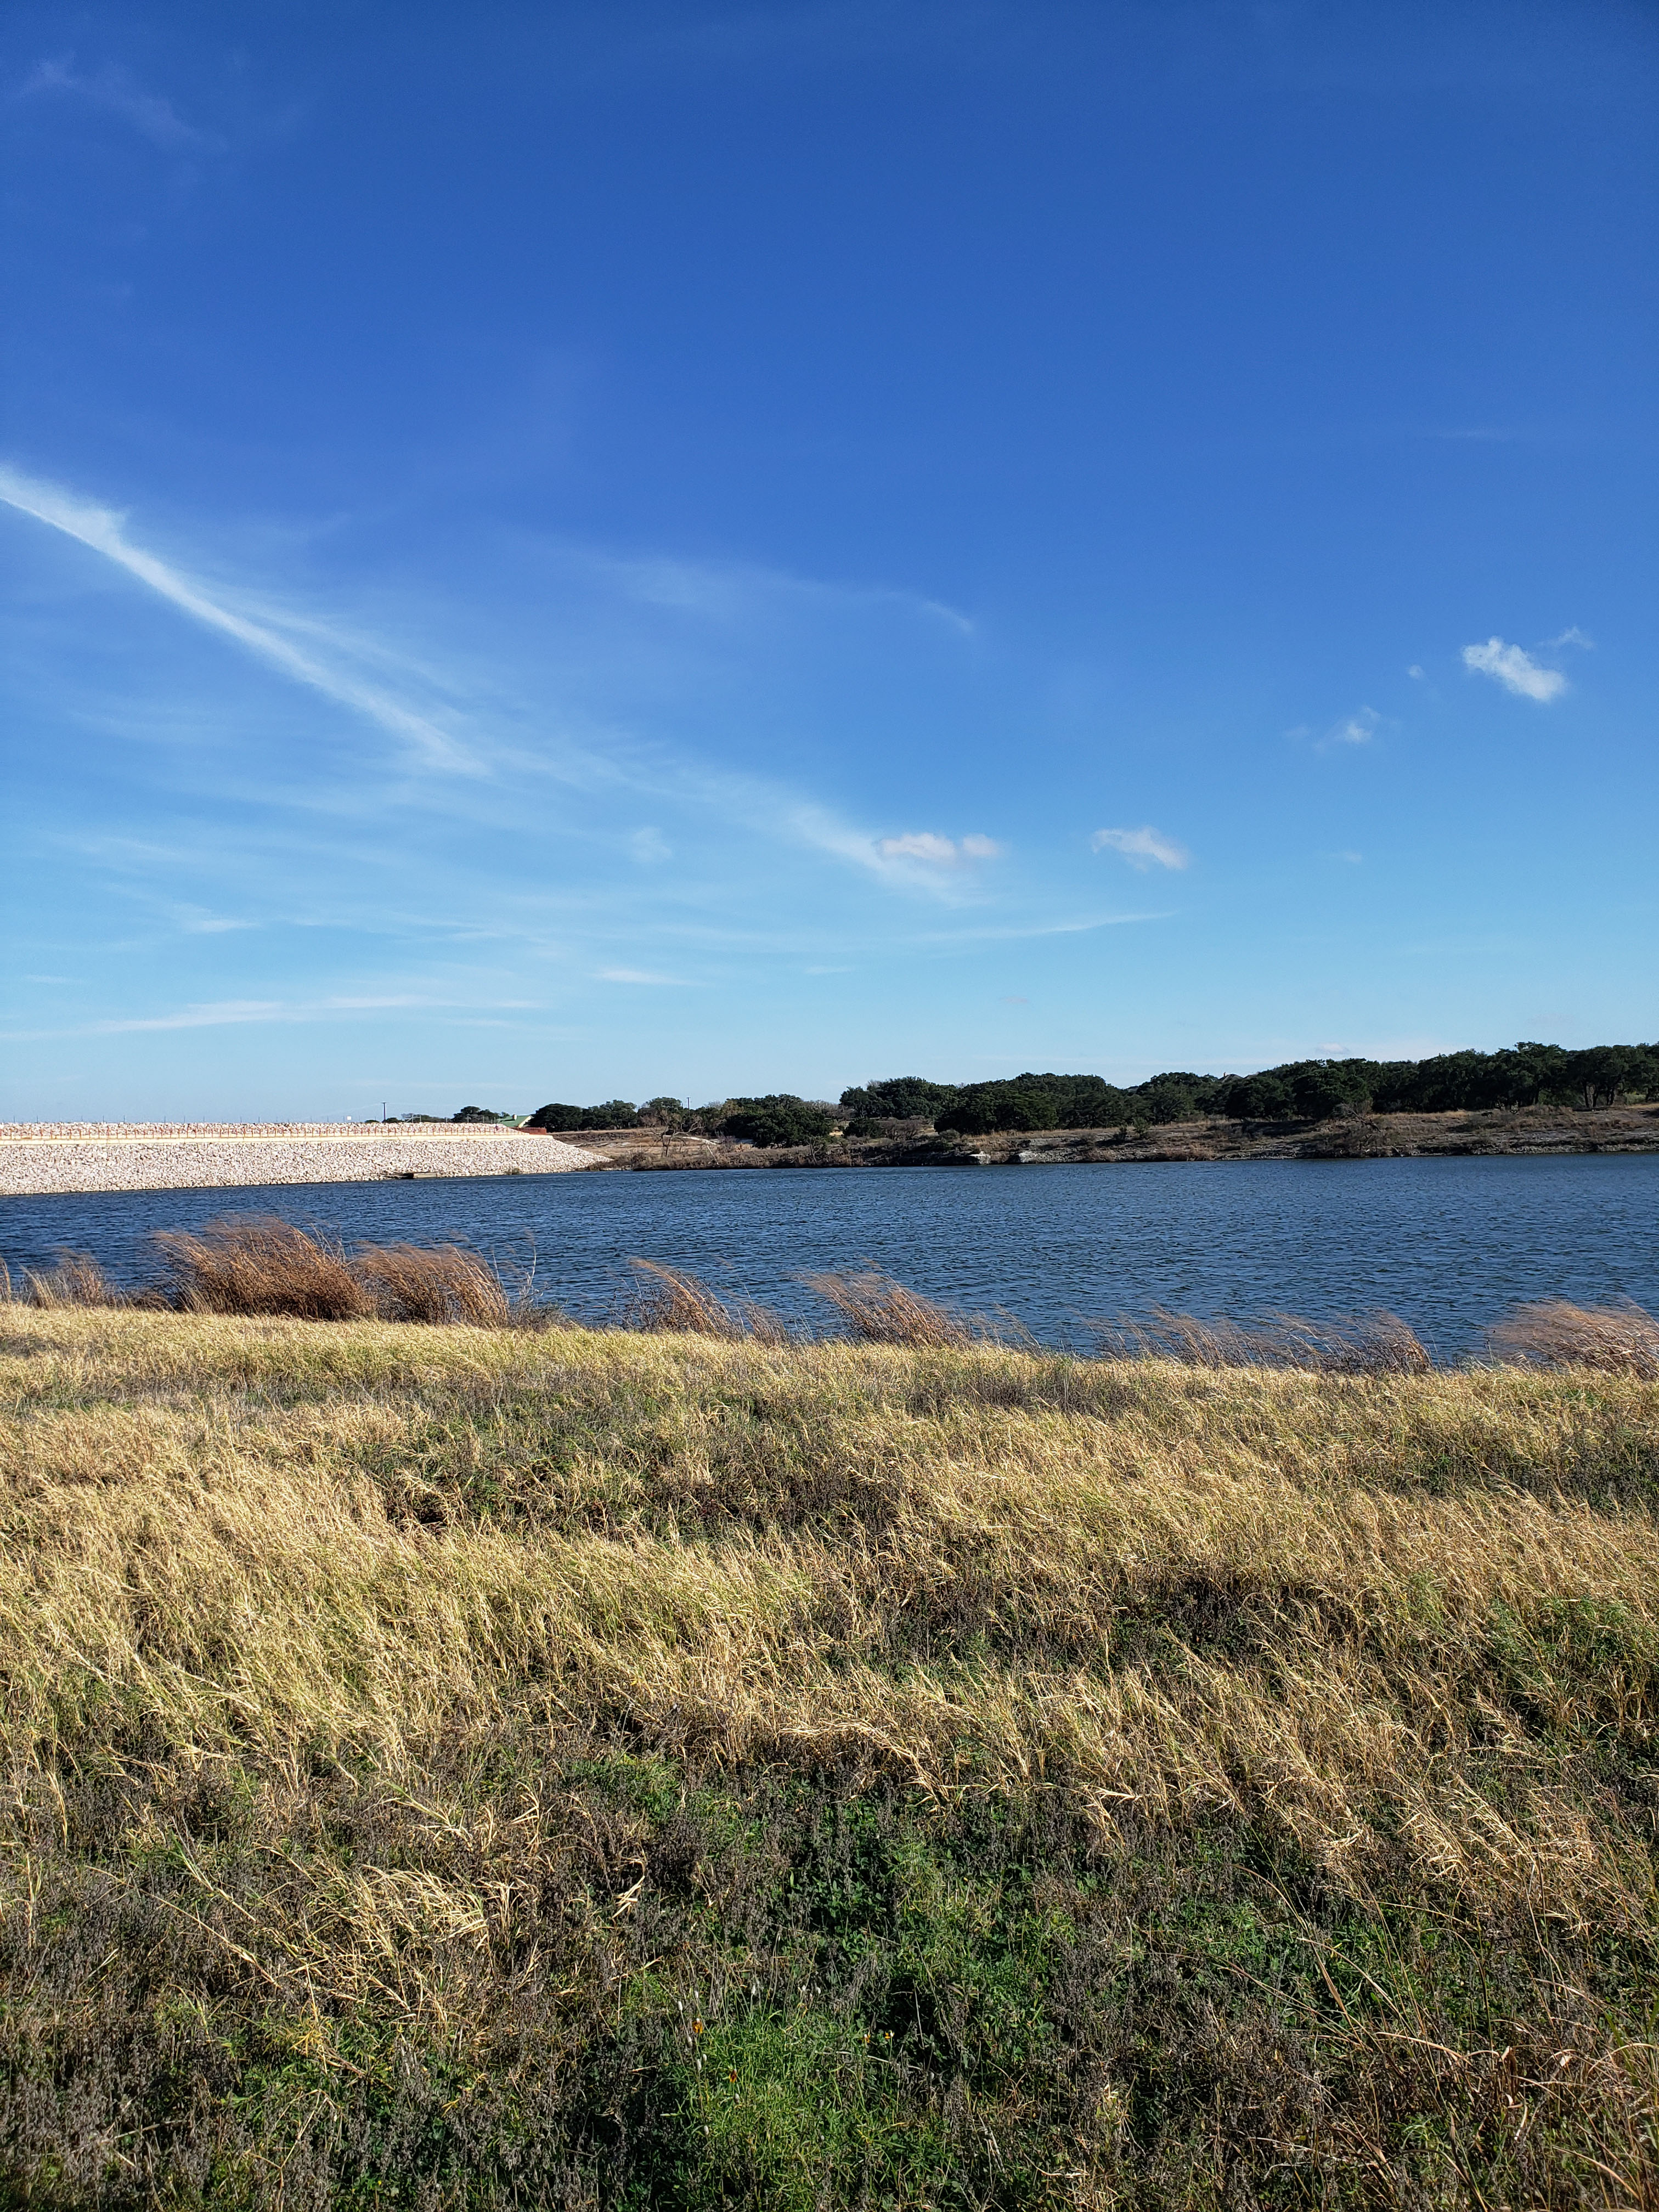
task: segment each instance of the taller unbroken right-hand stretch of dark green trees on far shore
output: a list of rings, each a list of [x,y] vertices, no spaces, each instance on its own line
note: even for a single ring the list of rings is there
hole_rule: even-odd
[[[1336,1113],[1455,1113],[1478,1106],[1615,1106],[1659,1097],[1659,1044],[1513,1044],[1433,1060],[1290,1060],[1256,1075],[1186,1068],[1119,1088],[1099,1075],[1009,1075],[936,1084],[889,1075],[841,1093],[847,1133],[925,1115],[964,1137],[1024,1128],[1157,1126],[1225,1115],[1232,1121],[1323,1121]]]

